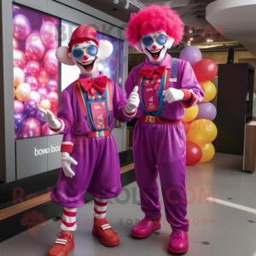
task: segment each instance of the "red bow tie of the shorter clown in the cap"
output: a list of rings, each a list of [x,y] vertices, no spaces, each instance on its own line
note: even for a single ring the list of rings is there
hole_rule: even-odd
[[[87,91],[88,101],[91,101],[90,96],[95,96],[95,100],[98,100],[96,91],[102,95],[103,99],[106,99],[103,95],[107,86],[107,77],[102,76],[98,79],[79,79],[79,83]]]

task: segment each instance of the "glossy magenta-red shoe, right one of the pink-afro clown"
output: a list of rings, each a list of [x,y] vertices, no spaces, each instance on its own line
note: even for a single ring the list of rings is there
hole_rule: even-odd
[[[172,227],[171,241],[169,251],[171,253],[182,254],[189,250],[189,235],[184,230],[177,230]]]

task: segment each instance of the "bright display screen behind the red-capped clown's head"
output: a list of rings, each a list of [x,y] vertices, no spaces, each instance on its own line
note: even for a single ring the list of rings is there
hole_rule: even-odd
[[[73,31],[79,27],[78,24],[61,20],[61,45],[68,46],[70,38]],[[124,41],[119,38],[113,38],[102,32],[97,32],[96,40],[108,40],[113,44],[113,53],[108,57],[108,59],[101,61],[99,63],[99,70],[102,71],[109,79],[119,84],[123,88],[123,61],[124,61]],[[69,84],[79,78],[79,67],[61,65],[61,90],[67,88]],[[120,127],[121,123],[114,119],[113,127]]]

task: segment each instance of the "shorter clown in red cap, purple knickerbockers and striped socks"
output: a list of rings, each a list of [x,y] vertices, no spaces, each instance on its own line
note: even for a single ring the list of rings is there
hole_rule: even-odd
[[[56,57],[66,65],[80,69],[77,80],[61,93],[57,118],[40,108],[52,131],[63,134],[61,172],[51,199],[64,207],[61,236],[49,250],[49,256],[67,256],[73,249],[73,231],[77,229],[76,212],[84,205],[86,191],[94,199],[92,234],[103,245],[119,244],[119,236],[106,220],[108,199],[121,191],[119,154],[111,131],[113,117],[130,121],[137,112],[137,88],[127,100],[118,84],[99,72],[99,62],[108,58],[113,45],[96,41],[92,26],[79,26],[68,47],[56,50]]]

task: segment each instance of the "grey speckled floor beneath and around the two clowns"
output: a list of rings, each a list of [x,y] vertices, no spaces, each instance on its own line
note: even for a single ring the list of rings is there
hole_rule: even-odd
[[[216,154],[211,162],[187,166],[186,186],[194,194],[188,192],[189,252],[185,255],[256,255],[256,215],[245,211],[247,209],[205,201],[201,196],[202,191],[206,195],[212,191],[219,200],[256,208],[256,173],[241,172],[241,168],[242,157],[229,154]],[[164,220],[162,228],[147,239],[131,237],[132,226],[137,219],[143,218],[138,193],[137,183],[131,183],[118,198],[108,202],[107,217],[121,241],[117,247],[103,247],[91,235],[93,204],[80,207],[75,247],[68,255],[172,255],[167,251],[171,229]],[[162,214],[165,218],[164,209]],[[59,226],[49,220],[45,227],[39,227],[38,236],[30,236],[26,231],[3,241],[0,243],[0,255],[47,255]]]

